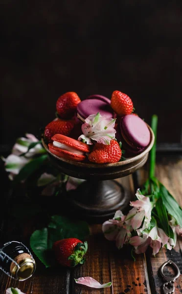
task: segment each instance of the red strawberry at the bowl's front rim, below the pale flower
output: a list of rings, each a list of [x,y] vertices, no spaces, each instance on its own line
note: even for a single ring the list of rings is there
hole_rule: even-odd
[[[110,145],[96,143],[88,158],[94,163],[114,163],[120,160],[121,155],[119,144],[111,140]]]

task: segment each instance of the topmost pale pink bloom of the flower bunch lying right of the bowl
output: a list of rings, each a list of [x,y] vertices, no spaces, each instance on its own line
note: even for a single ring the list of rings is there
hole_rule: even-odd
[[[139,189],[137,190],[136,196],[138,200],[130,202],[130,205],[134,208],[129,211],[125,222],[130,224],[133,229],[136,230],[141,226],[144,219],[142,228],[137,232],[138,235],[141,235],[142,231],[148,228],[151,221],[153,203],[150,201],[149,197],[141,195]]]

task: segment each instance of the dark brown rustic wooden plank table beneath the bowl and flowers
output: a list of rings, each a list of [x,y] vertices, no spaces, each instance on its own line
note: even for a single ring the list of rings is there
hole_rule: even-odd
[[[146,169],[146,166],[145,166]],[[121,179],[123,186],[129,187],[130,195],[134,195],[139,185],[146,178],[145,169],[139,170],[134,177]],[[182,156],[157,156],[156,176],[177,199],[182,206]],[[36,228],[37,220],[12,222],[7,220],[3,230],[17,239],[22,227],[22,237],[29,240],[30,234]],[[146,254],[136,256],[136,261],[130,257],[127,248],[120,251],[112,242],[107,241],[102,232],[101,224],[91,225],[91,236],[88,240],[89,251],[87,261],[75,269],[54,268],[45,269],[36,259],[37,270],[32,278],[24,282],[16,282],[0,272],[0,294],[5,294],[6,288],[18,287],[26,294],[160,294],[162,278],[159,267],[167,260],[173,260],[182,273],[182,239],[178,239],[175,249],[162,249],[156,257]],[[76,285],[74,278],[91,276],[100,283],[112,281],[112,287],[106,289],[91,289]],[[175,282],[176,294],[182,293],[182,276]]]

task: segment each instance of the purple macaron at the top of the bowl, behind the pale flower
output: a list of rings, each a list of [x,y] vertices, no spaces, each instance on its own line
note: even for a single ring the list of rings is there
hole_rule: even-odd
[[[114,111],[110,104],[111,100],[102,95],[91,95],[77,105],[77,117],[84,122],[91,114],[99,112],[111,119],[114,117]]]

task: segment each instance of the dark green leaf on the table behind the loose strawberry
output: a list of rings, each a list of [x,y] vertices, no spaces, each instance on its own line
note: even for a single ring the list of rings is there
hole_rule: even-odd
[[[90,234],[85,221],[69,220],[62,216],[52,216],[48,228],[36,230],[30,237],[30,246],[45,267],[52,265],[52,245],[66,238],[77,238],[83,241]]]

